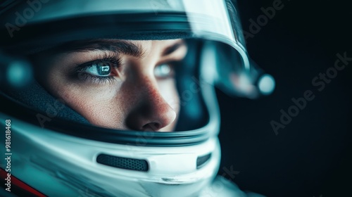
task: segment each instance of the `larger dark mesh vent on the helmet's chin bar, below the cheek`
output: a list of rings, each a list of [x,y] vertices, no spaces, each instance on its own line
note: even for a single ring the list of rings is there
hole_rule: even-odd
[[[149,166],[146,160],[121,158],[113,155],[100,154],[96,158],[96,162],[101,163],[103,165],[118,167],[126,170],[136,170],[142,172],[146,172],[149,170]]]

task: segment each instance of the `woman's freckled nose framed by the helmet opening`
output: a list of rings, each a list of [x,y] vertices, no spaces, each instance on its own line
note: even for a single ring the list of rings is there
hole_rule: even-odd
[[[176,112],[163,98],[157,82],[146,81],[137,84],[126,125],[134,130],[159,131],[175,121]]]

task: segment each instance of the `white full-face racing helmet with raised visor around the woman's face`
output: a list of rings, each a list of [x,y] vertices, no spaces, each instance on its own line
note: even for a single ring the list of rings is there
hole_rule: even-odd
[[[249,59],[231,1],[29,0],[1,8],[0,124],[9,131],[1,153],[11,158],[1,173],[35,195],[204,196],[220,163],[214,85],[257,98],[275,84]],[[43,51],[101,39],[184,40],[175,132],[94,125],[40,82]]]

